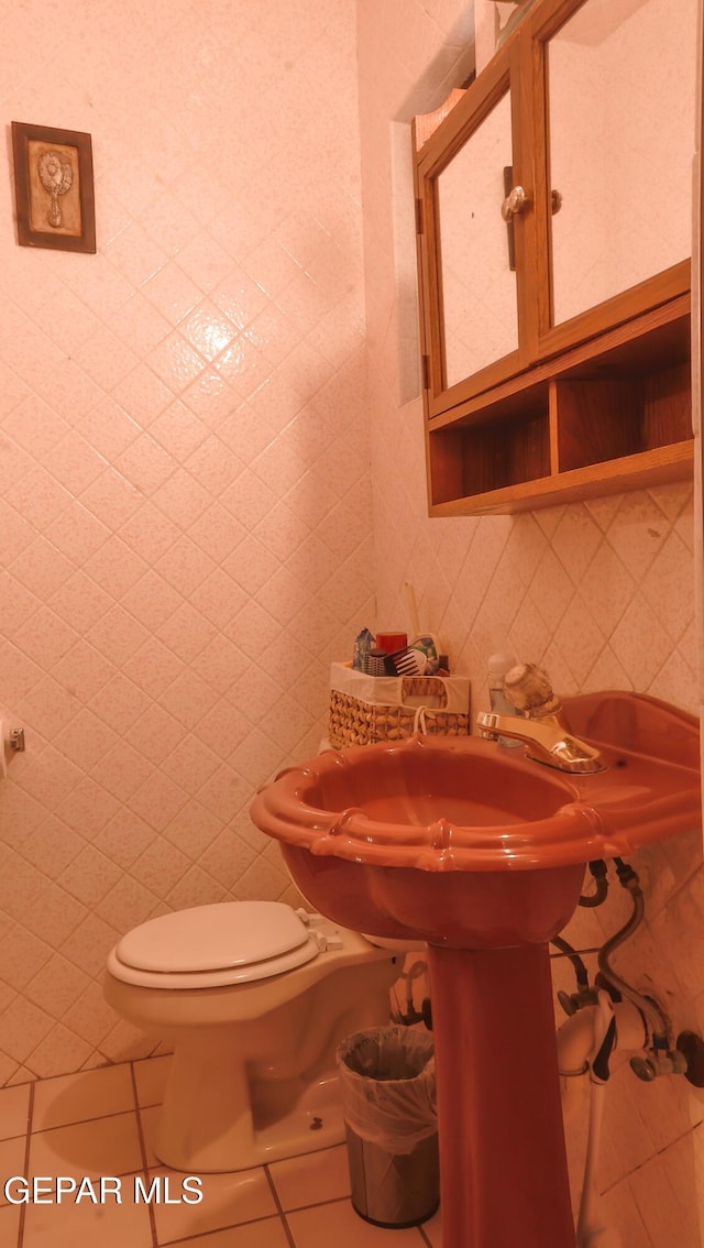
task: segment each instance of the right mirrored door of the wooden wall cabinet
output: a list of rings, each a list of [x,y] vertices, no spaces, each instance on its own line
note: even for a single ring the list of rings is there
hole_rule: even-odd
[[[545,0],[530,16],[547,131],[544,356],[689,288],[697,0]]]

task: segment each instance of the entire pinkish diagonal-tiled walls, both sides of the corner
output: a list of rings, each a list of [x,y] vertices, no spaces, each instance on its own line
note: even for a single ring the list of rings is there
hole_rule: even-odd
[[[0,708],[27,753],[0,785],[0,1082],[19,1083],[150,1051],[101,998],[129,926],[286,895],[247,804],[316,748],[374,589],[376,623],[406,626],[413,583],[476,706],[511,645],[565,691],[694,709],[697,638],[684,485],[426,517],[407,127],[467,76],[469,5],[26,0],[0,39],[4,125],[92,134],[99,232],[96,256],[17,247],[2,181]],[[700,861],[698,835],[643,856],[622,967],[678,1028],[704,1028]],[[614,1087],[600,1186],[624,1242],[683,1226],[699,1248],[702,1094]]]

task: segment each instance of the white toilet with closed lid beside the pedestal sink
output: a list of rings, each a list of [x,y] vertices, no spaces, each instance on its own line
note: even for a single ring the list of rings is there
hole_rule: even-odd
[[[340,1143],[335,1052],[388,1023],[399,948],[277,901],[196,906],[127,932],[104,991],[174,1046],[159,1159],[200,1174]]]

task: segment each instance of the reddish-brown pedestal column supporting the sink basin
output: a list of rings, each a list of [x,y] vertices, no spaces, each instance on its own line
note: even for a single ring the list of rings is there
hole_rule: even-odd
[[[548,946],[428,965],[443,1248],[574,1248]]]

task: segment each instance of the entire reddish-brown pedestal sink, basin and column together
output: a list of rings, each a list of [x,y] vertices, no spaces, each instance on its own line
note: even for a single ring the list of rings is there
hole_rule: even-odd
[[[585,862],[700,824],[693,716],[628,693],[564,709],[607,770],[414,736],[328,750],[252,806],[322,914],[428,942],[443,1248],[574,1248],[548,941]]]

